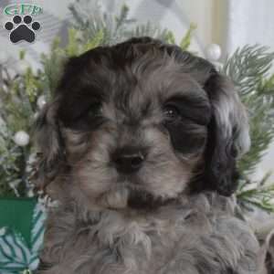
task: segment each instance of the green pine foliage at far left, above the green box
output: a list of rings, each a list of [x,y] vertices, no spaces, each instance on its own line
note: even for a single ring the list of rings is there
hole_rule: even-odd
[[[20,59],[24,61],[21,52]],[[26,195],[26,158],[32,148],[31,144],[18,146],[14,137],[18,131],[30,132],[42,82],[27,68],[21,75],[6,77],[0,85],[0,195]]]

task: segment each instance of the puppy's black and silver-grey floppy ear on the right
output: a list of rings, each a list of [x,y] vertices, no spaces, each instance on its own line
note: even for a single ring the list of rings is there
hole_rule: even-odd
[[[205,184],[221,195],[237,189],[237,158],[248,151],[247,112],[237,90],[225,76],[213,68],[205,82],[212,106],[205,151]]]

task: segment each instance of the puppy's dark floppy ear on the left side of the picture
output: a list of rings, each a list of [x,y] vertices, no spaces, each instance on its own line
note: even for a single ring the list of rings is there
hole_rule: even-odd
[[[44,107],[35,124],[35,139],[40,155],[36,180],[38,188],[45,188],[53,181],[61,163],[64,163],[65,151],[57,112],[58,100],[55,100]]]

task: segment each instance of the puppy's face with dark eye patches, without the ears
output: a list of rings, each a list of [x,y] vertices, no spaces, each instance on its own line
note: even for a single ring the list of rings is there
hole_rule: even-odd
[[[205,90],[172,58],[105,66],[85,68],[60,100],[73,182],[109,206],[176,197],[205,150]]]

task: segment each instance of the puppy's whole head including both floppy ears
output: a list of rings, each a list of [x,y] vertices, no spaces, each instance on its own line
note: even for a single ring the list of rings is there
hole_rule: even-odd
[[[190,189],[229,195],[249,143],[231,83],[205,59],[148,37],[71,58],[37,140],[41,184],[66,178],[72,195],[112,208]]]

